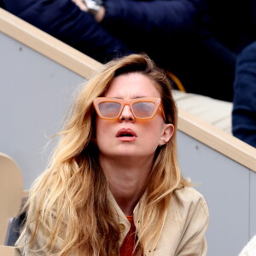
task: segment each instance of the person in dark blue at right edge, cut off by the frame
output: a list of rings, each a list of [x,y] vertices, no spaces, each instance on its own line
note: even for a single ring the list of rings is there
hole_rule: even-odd
[[[256,148],[256,42],[243,49],[237,59],[232,132]]]

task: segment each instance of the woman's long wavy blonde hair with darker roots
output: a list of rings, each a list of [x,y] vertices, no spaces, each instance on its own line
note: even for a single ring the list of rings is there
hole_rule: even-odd
[[[108,180],[98,160],[95,141],[93,100],[104,96],[116,76],[123,73],[142,73],[157,84],[166,123],[177,127],[177,107],[172,98],[171,84],[166,74],[155,67],[146,55],[129,55],[108,62],[90,79],[74,104],[67,127],[59,133],[60,140],[49,162],[49,168],[35,181],[27,202],[27,226],[32,227],[28,245],[38,231],[47,234],[47,255],[119,255],[119,224],[113,218],[108,201]],[[189,186],[177,164],[176,131],[166,145],[155,152],[154,165],[137,227],[137,255],[146,248],[154,251],[165,222],[172,192],[180,185]],[[47,227],[47,228],[46,228]],[[63,230],[67,230],[66,236]],[[55,252],[57,236],[62,234],[63,245]]]

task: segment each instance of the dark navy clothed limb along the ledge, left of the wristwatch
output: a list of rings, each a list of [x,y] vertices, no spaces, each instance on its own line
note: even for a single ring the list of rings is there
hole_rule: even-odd
[[[133,52],[71,0],[2,0],[4,9],[98,61]]]

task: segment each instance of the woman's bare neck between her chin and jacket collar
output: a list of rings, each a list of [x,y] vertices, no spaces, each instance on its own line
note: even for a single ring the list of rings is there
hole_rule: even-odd
[[[146,188],[153,158],[113,160],[101,155],[100,161],[115,201],[126,216],[133,215],[133,210]]]

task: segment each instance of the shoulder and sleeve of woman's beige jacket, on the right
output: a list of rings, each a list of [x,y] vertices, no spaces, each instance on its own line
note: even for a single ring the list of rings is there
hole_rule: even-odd
[[[207,202],[201,193],[186,186],[173,191],[163,230],[163,236],[172,236],[175,252],[172,255],[207,254],[205,233],[208,218]],[[170,241],[166,242],[166,246],[164,241],[161,245],[167,248]]]

